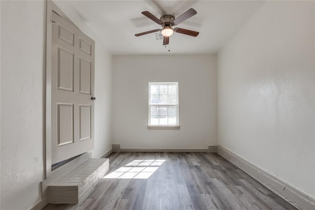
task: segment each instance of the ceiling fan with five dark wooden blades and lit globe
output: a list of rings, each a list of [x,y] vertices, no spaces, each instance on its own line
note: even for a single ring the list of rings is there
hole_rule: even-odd
[[[137,33],[137,34],[134,34],[135,36],[142,36],[142,35],[145,35],[148,33],[160,31],[161,34],[163,35],[163,45],[167,45],[169,43],[169,37],[174,33],[174,31],[177,33],[183,33],[183,34],[186,34],[189,36],[194,36],[194,37],[196,37],[199,34],[199,32],[193,31],[193,30],[187,30],[187,29],[181,29],[181,28],[173,29],[172,28],[173,26],[176,26],[176,25],[186,21],[190,17],[197,14],[196,10],[194,10],[192,8],[190,8],[189,10],[184,12],[182,15],[180,15],[176,19],[173,15],[163,15],[162,17],[160,17],[160,19],[158,19],[156,16],[154,16],[153,14],[151,14],[148,11],[144,11],[141,13],[143,15],[147,16],[148,18],[150,18],[151,20],[153,20],[154,22],[156,22],[158,25],[161,25],[162,29],[155,29],[155,30],[145,31],[142,33]]]

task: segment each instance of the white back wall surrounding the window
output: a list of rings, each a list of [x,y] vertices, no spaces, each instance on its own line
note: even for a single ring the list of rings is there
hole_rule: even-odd
[[[179,82],[180,130],[148,130],[148,83]],[[217,145],[216,55],[114,56],[113,144],[124,149]]]

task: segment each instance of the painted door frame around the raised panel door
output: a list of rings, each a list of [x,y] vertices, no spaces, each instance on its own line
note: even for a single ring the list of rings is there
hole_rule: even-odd
[[[47,186],[52,183],[53,181],[59,179],[63,174],[70,171],[71,169],[75,168],[79,164],[86,161],[88,158],[91,157],[91,154],[86,152],[85,154],[77,157],[76,159],[64,164],[63,166],[59,167],[58,169],[51,171],[52,165],[52,148],[51,148],[51,73],[52,73],[52,12],[56,12],[59,16],[61,16],[64,20],[69,22],[71,25],[79,29],[52,0],[46,0],[46,46],[45,46],[45,69],[44,71],[44,78],[45,78],[45,85],[44,85],[44,93],[45,93],[45,115],[44,115],[44,179],[42,181],[42,198],[47,196]]]

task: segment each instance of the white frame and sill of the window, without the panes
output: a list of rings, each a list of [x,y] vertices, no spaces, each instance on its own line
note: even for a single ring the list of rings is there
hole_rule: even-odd
[[[177,100],[176,104],[151,104],[151,86],[152,85],[176,85],[177,87]],[[167,129],[167,130],[178,130],[179,125],[179,92],[178,82],[149,82],[149,94],[148,94],[148,129]],[[152,125],[151,124],[151,106],[176,106],[176,124],[175,125]]]

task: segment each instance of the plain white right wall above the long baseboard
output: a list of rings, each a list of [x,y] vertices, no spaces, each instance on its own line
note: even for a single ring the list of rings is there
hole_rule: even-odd
[[[218,55],[219,145],[315,197],[314,1],[266,1]]]

